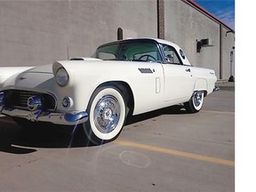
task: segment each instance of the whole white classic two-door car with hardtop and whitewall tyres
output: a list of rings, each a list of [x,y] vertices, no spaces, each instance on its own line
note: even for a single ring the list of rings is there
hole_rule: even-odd
[[[177,44],[135,38],[100,45],[93,58],[0,68],[0,114],[18,124],[83,124],[89,140],[115,140],[126,116],[184,104],[203,107],[212,69],[193,67]]]

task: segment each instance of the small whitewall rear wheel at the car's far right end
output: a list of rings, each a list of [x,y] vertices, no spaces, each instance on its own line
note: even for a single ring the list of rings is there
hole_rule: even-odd
[[[189,113],[197,113],[203,108],[204,92],[194,92],[191,99],[184,103],[184,107]]]

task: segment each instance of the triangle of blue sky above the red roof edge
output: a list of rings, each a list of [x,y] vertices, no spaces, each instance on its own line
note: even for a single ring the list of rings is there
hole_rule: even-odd
[[[195,2],[222,20],[228,27],[235,29],[235,0],[195,0]]]

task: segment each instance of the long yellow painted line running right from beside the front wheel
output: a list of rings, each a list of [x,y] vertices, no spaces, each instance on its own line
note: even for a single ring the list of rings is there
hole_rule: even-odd
[[[184,152],[184,151],[172,150],[169,148],[159,148],[159,147],[155,147],[155,146],[140,144],[140,143],[131,142],[131,141],[124,141],[124,140],[115,140],[114,143],[116,143],[117,145],[126,146],[126,147],[130,147],[130,148],[140,148],[140,149],[154,151],[154,152],[158,152],[158,153],[164,153],[164,154],[168,154],[168,155],[172,155],[172,156],[182,156],[182,157],[196,159],[196,160],[200,160],[200,161],[204,161],[204,162],[208,162],[208,163],[212,163],[212,164],[221,164],[221,165],[226,165],[226,166],[230,166],[230,167],[235,167],[234,161],[216,158],[216,157],[212,157],[212,156],[201,156],[201,155],[188,153],[188,152]]]

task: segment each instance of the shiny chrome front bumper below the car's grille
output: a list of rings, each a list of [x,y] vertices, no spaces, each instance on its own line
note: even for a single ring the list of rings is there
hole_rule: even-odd
[[[0,114],[5,116],[26,118],[32,122],[50,122],[52,124],[74,125],[82,124],[87,121],[88,114],[85,111],[74,111],[66,113],[55,113],[45,111],[27,111],[17,108],[0,108]]]

